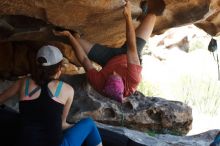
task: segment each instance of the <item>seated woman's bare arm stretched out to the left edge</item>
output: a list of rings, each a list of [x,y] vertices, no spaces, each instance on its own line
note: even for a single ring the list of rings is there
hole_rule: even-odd
[[[13,97],[17,95],[21,89],[22,80],[16,81],[13,85],[11,85],[9,88],[4,90],[0,94],[0,104],[3,104],[5,101],[7,101],[10,97]]]

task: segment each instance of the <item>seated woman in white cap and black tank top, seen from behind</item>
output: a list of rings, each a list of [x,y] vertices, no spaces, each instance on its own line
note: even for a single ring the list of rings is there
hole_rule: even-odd
[[[3,103],[20,93],[20,131],[15,145],[80,146],[86,141],[88,145],[101,146],[99,132],[90,118],[75,126],[66,122],[74,91],[58,80],[62,53],[54,46],[43,46],[36,59],[37,71],[31,78],[18,80],[0,94],[0,103]]]

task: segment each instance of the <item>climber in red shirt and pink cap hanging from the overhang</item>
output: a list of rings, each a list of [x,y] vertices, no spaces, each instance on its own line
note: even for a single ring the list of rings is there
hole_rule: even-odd
[[[141,81],[141,52],[150,37],[156,16],[163,13],[163,0],[141,2],[143,14],[139,17],[141,24],[134,29],[131,16],[131,4],[125,0],[124,17],[126,21],[126,42],[121,48],[109,48],[100,44],[92,44],[72,35],[69,31],[55,32],[57,36],[69,38],[78,60],[86,70],[87,78],[95,90],[102,95],[119,102],[123,97],[133,94]],[[92,61],[100,64],[97,71]]]

